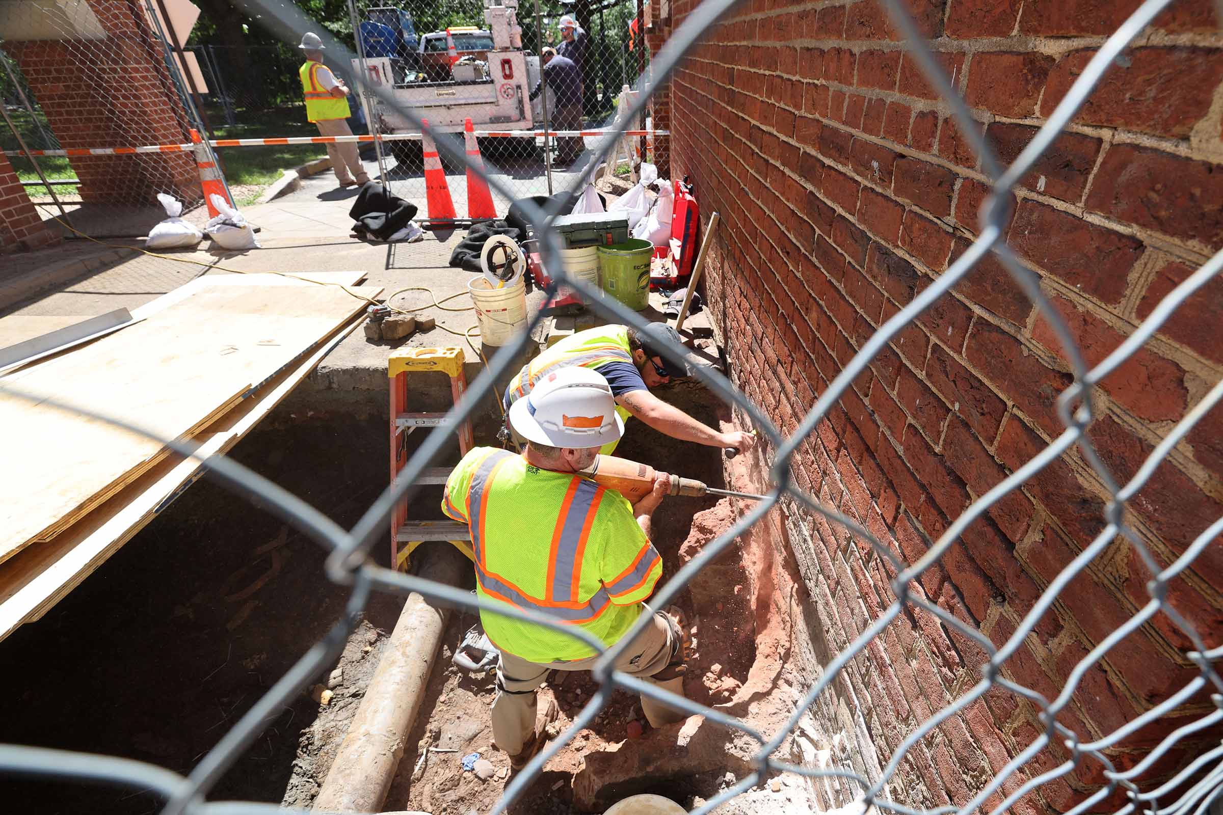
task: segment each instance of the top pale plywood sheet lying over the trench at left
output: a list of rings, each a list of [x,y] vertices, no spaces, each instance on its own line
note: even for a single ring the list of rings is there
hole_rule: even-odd
[[[188,439],[364,305],[336,286],[294,286],[291,297],[269,286],[208,287],[0,385]],[[165,453],[160,442],[2,390],[0,428],[0,562],[71,524]]]

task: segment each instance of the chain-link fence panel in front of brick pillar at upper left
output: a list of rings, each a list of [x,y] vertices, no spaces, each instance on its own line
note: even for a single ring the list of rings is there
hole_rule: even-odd
[[[6,152],[21,152],[18,134],[32,150],[188,142],[199,125],[161,31],[143,1],[0,5],[2,81],[16,86],[10,119],[18,131],[4,134]],[[55,191],[71,226],[94,237],[144,235],[165,217],[158,193],[187,210],[203,200],[190,153],[11,160],[23,180],[38,180],[37,170],[48,180],[73,180]],[[45,187],[29,191],[48,217],[60,215]]]

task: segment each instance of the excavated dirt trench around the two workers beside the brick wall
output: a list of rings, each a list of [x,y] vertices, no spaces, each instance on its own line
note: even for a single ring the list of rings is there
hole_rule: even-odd
[[[700,387],[673,387],[663,397],[709,424],[719,419],[715,401]],[[301,415],[278,413],[232,455],[351,527],[386,484],[385,419],[295,418]],[[477,444],[489,437],[483,434],[490,424],[477,425]],[[630,425],[618,455],[724,485],[720,451],[676,442],[641,424]],[[440,489],[432,489],[437,491],[413,506],[413,517],[437,517]],[[693,517],[704,518],[697,524],[703,535],[693,532]],[[725,500],[664,501],[653,534],[664,579],[698,547],[693,538],[707,540],[733,518]],[[702,704],[728,705],[756,662],[756,582],[741,555],[733,546],[678,602],[696,629],[685,693]],[[374,556],[389,560],[380,546]],[[125,756],[190,772],[342,613],[347,589],[327,580],[324,560],[322,547],[301,533],[202,479],[42,621],[0,643],[6,711],[0,742]],[[468,580],[472,588],[473,578]],[[275,714],[208,798],[308,806],[401,606],[401,596],[375,594],[339,671],[324,671],[314,696],[302,694]],[[479,751],[508,770],[505,755],[492,747],[492,673],[471,676],[450,662],[476,619],[472,612],[451,613],[385,810],[487,811],[506,783],[504,777],[481,781],[460,765],[462,755]],[[567,725],[596,687],[588,673],[561,676],[563,682],[539,693],[541,701],[556,699],[560,723]],[[318,692],[329,683],[331,699],[320,705]],[[640,734],[637,723],[643,726]],[[663,755],[668,743],[669,756]],[[691,808],[729,782],[729,760],[686,762],[674,755],[674,732],[654,733],[646,725],[636,695],[618,690],[511,811],[603,811],[638,792]],[[603,759],[624,764],[634,751],[640,751],[636,764],[604,766],[598,778],[589,777]],[[159,809],[153,794],[127,788],[26,778],[5,778],[0,788],[5,809],[13,811]]]

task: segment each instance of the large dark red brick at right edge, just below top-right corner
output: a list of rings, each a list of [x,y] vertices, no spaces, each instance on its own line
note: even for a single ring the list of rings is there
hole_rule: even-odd
[[[1049,116],[1095,56],[1073,51],[1058,61],[1041,99]],[[1210,110],[1223,78],[1223,51],[1206,48],[1137,48],[1114,61],[1075,121],[1183,138]]]

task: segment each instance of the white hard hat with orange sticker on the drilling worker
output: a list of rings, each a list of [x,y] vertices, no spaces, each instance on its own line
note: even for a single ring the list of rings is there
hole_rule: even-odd
[[[603,374],[576,365],[555,370],[510,406],[510,425],[550,447],[602,447],[624,434]]]

